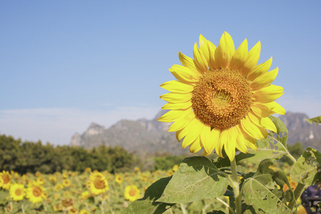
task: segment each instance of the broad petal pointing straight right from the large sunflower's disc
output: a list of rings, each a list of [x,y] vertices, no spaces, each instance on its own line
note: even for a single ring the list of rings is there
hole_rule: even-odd
[[[253,93],[253,98],[259,103],[270,103],[282,96],[283,88],[281,86],[270,85]]]

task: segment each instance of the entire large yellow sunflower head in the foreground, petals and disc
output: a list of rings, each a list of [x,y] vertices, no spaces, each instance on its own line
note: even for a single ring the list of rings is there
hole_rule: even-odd
[[[285,114],[275,103],[283,88],[272,85],[278,68],[267,72],[272,57],[258,64],[260,41],[248,51],[245,39],[235,51],[233,39],[224,32],[218,48],[200,35],[195,43],[193,58],[179,52],[180,65],[170,72],[177,78],[161,84],[170,93],[161,98],[168,101],[163,109],[170,109],[158,121],[174,122],[168,131],[175,131],[183,140],[183,148],[190,146],[196,153],[204,148],[207,156],[213,150],[223,157],[222,150],[233,161],[235,148],[243,153],[257,149],[255,139],[267,137],[267,129],[276,131],[268,118],[274,113]]]

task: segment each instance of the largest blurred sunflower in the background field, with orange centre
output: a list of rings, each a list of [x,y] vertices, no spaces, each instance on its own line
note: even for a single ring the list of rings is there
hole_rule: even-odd
[[[108,181],[102,173],[95,171],[89,176],[89,189],[93,195],[103,194],[109,190]]]

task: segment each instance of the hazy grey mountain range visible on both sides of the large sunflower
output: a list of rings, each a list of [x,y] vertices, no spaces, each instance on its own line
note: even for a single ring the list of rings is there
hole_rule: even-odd
[[[123,146],[127,151],[136,153],[188,153],[189,148],[182,150],[181,143],[175,138],[175,133],[169,133],[170,123],[162,123],[157,118],[166,111],[160,111],[152,120],[139,119],[137,121],[121,120],[110,128],[104,128],[91,123],[82,133],[75,133],[71,138],[71,146],[93,148],[104,144],[106,146]],[[321,151],[321,126],[305,121],[304,113],[287,112],[280,119],[289,131],[287,143],[292,145],[298,141],[304,147],[312,146]]]

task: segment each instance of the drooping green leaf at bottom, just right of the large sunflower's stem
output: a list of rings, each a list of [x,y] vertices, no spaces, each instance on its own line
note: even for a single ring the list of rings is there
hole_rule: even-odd
[[[292,189],[289,194],[283,192],[285,183],[290,186],[283,171],[269,168],[273,164],[271,159],[263,160],[252,178],[245,180],[241,193],[244,202],[252,206],[253,210],[263,210],[265,213],[292,213],[287,203],[294,201]],[[286,195],[286,197],[285,197]]]

